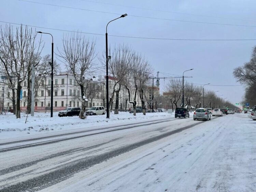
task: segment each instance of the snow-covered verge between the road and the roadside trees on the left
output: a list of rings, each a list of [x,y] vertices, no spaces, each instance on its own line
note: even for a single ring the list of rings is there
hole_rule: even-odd
[[[22,137],[35,134],[44,134],[74,129],[91,129],[102,125],[112,125],[117,123],[129,123],[133,121],[142,121],[147,119],[174,118],[174,115],[168,113],[137,113],[136,116],[128,112],[119,112],[119,114],[110,114],[110,119],[105,115],[88,116],[86,119],[80,119],[78,116],[58,117],[58,112],[53,113],[34,113],[34,116],[22,113],[20,119],[16,119],[11,113],[0,115],[0,140],[12,137]]]

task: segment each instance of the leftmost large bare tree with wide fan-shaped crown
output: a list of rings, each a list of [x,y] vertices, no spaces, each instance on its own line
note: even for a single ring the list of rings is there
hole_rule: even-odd
[[[1,27],[0,54],[11,88],[17,91],[16,117],[20,118],[20,91],[22,82],[26,79],[31,65],[38,59],[42,50],[40,39],[38,46],[35,42],[37,33],[20,25],[13,30],[11,25]],[[12,77],[17,78],[17,88],[14,88]],[[14,93],[13,93],[14,94]]]

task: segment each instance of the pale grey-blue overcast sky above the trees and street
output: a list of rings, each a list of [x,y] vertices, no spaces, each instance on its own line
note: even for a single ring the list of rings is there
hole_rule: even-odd
[[[85,34],[96,39],[96,52],[99,55],[105,49],[106,24],[127,13],[128,16],[112,22],[108,27],[109,35],[134,36],[166,39],[256,39],[256,1],[255,0],[31,0],[60,6],[44,5],[19,0],[2,0],[0,20],[10,23],[37,26],[37,30],[51,33],[54,37],[55,52],[62,48],[63,32],[60,30],[81,31],[102,35]],[[106,3],[106,4],[104,4]],[[121,5],[121,6],[120,6]],[[109,13],[101,13],[109,12]],[[116,13],[116,14],[113,14]],[[190,23],[220,23],[215,25]],[[5,23],[1,23],[5,26]],[[247,25],[247,26],[233,26]],[[16,27],[16,25],[14,25]],[[251,27],[250,27],[251,26]],[[51,29],[43,29],[51,28]],[[51,37],[42,37],[45,47],[42,55],[51,54]],[[211,85],[240,85],[234,79],[233,69],[250,60],[252,47],[256,41],[179,41],[152,40],[109,36],[109,45],[128,44],[134,50],[145,55],[160,77],[168,74],[193,76],[187,78],[190,83]],[[57,53],[57,52],[56,52]],[[54,56],[56,59],[56,56]],[[95,60],[98,63],[98,60]],[[100,64],[99,64],[100,65]],[[170,75],[173,76],[173,75]],[[160,80],[160,90],[165,82]],[[205,86],[205,89],[219,91],[217,95],[238,103],[244,95],[243,86]]]

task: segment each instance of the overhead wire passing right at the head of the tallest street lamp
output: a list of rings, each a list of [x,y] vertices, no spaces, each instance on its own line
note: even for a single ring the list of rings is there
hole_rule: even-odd
[[[111,12],[96,11],[96,10],[89,10],[89,9],[82,9],[82,8],[74,8],[74,7],[70,7],[70,6],[62,6],[62,5],[55,5],[55,4],[49,4],[49,3],[40,3],[40,2],[27,1],[27,0],[19,0],[19,1],[29,2],[29,3],[37,3],[37,4],[43,4],[43,5],[50,5],[50,6],[57,6],[57,7],[69,8],[69,9],[76,9],[76,10],[83,10],[83,11],[91,11],[91,12],[98,12],[98,13],[108,13],[108,14],[122,15],[122,14],[120,14],[120,13],[111,13]],[[234,25],[234,24],[223,24],[223,23],[210,23],[210,22],[177,20],[177,19],[167,19],[167,18],[158,18],[158,17],[145,17],[145,16],[138,16],[138,15],[129,15],[129,16],[131,16],[131,17],[147,18],[147,19],[159,19],[159,20],[169,20],[169,21],[180,21],[180,22],[187,22],[187,23],[199,23],[199,24],[211,24],[211,25],[225,25],[225,26],[238,26],[238,27],[256,27],[256,26],[252,26],[252,25]]]

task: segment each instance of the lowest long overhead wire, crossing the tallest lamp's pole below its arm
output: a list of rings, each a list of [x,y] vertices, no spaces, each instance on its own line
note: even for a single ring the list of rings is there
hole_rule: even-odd
[[[1,23],[7,23],[7,24],[13,24],[13,25],[20,25],[18,23],[12,23],[7,21],[0,21]],[[83,33],[83,34],[90,34],[90,35],[104,35],[100,33],[88,33],[88,32],[82,32],[82,31],[71,31],[71,30],[65,30],[65,29],[55,29],[55,28],[48,28],[48,27],[40,27],[40,26],[34,26],[34,25],[27,25],[29,27],[35,27],[35,28],[41,28],[41,29],[50,29],[50,30],[56,30],[56,31],[64,31],[64,32],[75,32],[75,33]],[[149,37],[138,37],[138,36],[123,36],[123,35],[108,35],[108,36],[114,36],[114,37],[121,37],[121,38],[134,38],[134,39],[151,39],[151,40],[177,40],[177,41],[255,41],[256,39],[174,39],[174,38],[149,38]]]

